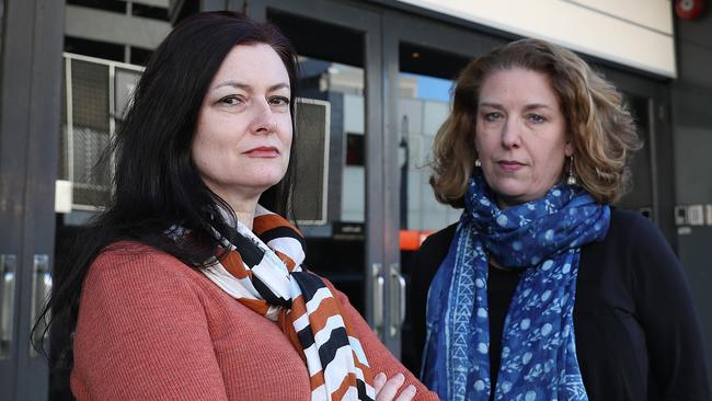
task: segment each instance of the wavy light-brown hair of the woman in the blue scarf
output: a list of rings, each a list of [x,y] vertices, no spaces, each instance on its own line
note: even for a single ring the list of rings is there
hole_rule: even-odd
[[[524,68],[544,73],[559,98],[574,146],[579,185],[596,200],[617,202],[630,186],[630,157],[642,147],[622,94],[581,57],[539,39],[520,39],[472,60],[459,75],[452,111],[433,144],[430,185],[444,204],[463,207],[474,147],[480,88],[495,71]]]

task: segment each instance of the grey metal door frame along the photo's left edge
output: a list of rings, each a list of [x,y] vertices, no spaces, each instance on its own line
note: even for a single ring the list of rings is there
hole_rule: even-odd
[[[46,400],[47,362],[30,348],[38,263],[51,265],[65,4],[5,0],[0,93],[0,253],[15,255],[13,343],[2,397]]]

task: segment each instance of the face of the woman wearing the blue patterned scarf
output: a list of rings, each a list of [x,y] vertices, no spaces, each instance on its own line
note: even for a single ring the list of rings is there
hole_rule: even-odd
[[[474,140],[501,208],[542,197],[561,180],[565,157],[573,153],[549,78],[522,68],[484,80]]]

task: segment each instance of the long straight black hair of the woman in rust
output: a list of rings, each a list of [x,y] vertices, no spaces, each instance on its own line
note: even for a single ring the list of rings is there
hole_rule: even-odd
[[[55,277],[51,298],[38,322],[51,310],[50,325],[60,320],[73,330],[84,277],[101,251],[116,241],[154,247],[197,268],[219,245],[210,227],[227,238],[234,234],[230,221],[213,219],[221,208],[232,210],[200,179],[191,147],[200,106],[222,61],[236,45],[256,43],[269,45],[289,75],[294,150],[297,58],[289,41],[275,26],[232,12],[199,13],[182,21],[153,53],[106,153],[113,156],[107,160],[114,163],[115,188],[108,206],[58,257],[55,271],[61,276]],[[285,217],[291,215],[295,165],[292,151],[287,173],[260,200]],[[190,243],[165,234],[175,226],[191,231]],[[39,340],[34,345],[44,352]],[[67,358],[71,358],[70,350],[71,344],[66,344],[62,354]]]

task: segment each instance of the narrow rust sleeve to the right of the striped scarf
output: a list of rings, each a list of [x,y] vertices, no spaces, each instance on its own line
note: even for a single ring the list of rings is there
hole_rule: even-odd
[[[383,373],[390,379],[401,373],[405,376],[405,382],[401,389],[406,388],[409,385],[415,386],[415,400],[438,400],[437,394],[429,391],[422,382],[420,382],[417,378],[415,378],[415,376],[413,376],[413,374],[411,374],[380,342],[360,313],[358,313],[358,311],[351,305],[348,297],[335,289],[331,283],[326,283],[331,287],[332,291],[334,291],[334,296],[338,299],[346,319],[348,319],[351,325],[356,331],[355,334],[364,347],[366,358],[368,359],[374,376]]]

